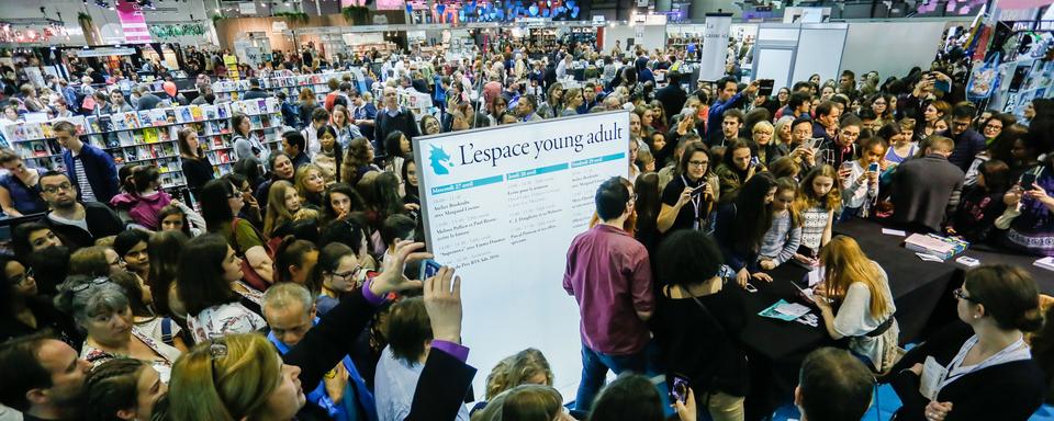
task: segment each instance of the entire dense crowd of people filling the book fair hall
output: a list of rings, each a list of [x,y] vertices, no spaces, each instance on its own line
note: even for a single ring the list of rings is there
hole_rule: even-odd
[[[313,54],[276,55],[254,78],[316,71]],[[846,70],[769,95],[736,76],[687,87],[693,59],[580,44],[337,59],[367,80],[334,78],[324,100],[278,94],[279,149],[233,116],[228,174],[180,129],[192,203],[155,167],[117,169],[67,122],[53,125],[64,171],[0,149],[3,212],[43,215],[0,257],[0,403],[24,420],[743,420],[758,385],[739,333],[754,316],[735,289],[784,264],[818,272],[819,329],[842,346],[801,364],[786,399],[803,420],[859,420],[876,383],[894,385],[905,420],[1024,420],[1051,400],[1054,323],[1029,272],[968,270],[956,323],[905,352],[889,275],[833,232],[877,219],[1054,255],[1054,102],[1024,120],[978,110],[940,61],[881,84]],[[205,67],[186,70],[194,101],[211,103]],[[87,86],[120,77],[79,71]],[[251,84],[247,96],[269,95]],[[4,118],[187,103],[136,88],[85,107],[68,86],[23,83]],[[415,115],[401,90],[438,112]],[[562,282],[582,320],[574,403],[552,385],[575,373],[535,349],[470,390],[461,280],[450,268],[419,278],[430,254],[412,140],[609,111],[629,114],[626,177],[597,187]],[[619,377],[605,385],[608,371]]]

